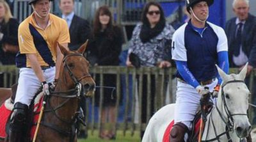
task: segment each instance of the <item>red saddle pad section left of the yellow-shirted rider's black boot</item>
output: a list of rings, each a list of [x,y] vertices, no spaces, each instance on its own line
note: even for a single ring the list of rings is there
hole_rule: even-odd
[[[0,112],[0,138],[5,138],[5,125],[12,111],[6,109],[5,105],[2,104],[2,106],[0,107]]]

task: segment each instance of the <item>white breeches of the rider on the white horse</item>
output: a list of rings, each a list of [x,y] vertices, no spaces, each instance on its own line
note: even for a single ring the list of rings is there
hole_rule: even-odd
[[[215,79],[211,84],[205,86],[208,86],[209,90],[212,92],[217,83],[218,79]],[[177,82],[176,95],[174,121],[175,123],[182,122],[191,129],[191,123],[200,106],[201,96],[193,86],[181,83],[180,81]]]

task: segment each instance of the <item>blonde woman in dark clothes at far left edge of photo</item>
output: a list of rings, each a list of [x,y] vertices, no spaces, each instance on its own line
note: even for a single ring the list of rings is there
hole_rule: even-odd
[[[18,46],[19,22],[13,19],[10,7],[4,0],[0,0],[0,60],[3,65],[15,65],[15,55]]]

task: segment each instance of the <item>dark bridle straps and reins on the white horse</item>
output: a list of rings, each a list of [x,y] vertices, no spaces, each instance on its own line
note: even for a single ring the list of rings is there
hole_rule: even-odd
[[[229,109],[228,109],[228,106],[227,106],[227,101],[225,99],[225,94],[224,94],[224,91],[223,91],[223,88],[229,84],[229,83],[244,83],[244,81],[242,80],[232,80],[232,81],[227,81],[225,84],[222,84],[221,85],[221,106],[224,106],[224,110],[225,110],[225,114],[227,114],[227,118],[228,118],[228,121],[226,122],[223,114],[221,114],[221,111],[220,109],[218,108],[218,106],[216,106],[216,110],[218,112],[218,114],[220,115],[221,117],[221,120],[225,123],[226,127],[225,127],[225,132],[222,132],[221,134],[216,134],[216,127],[214,126],[214,122],[212,120],[212,113],[210,114],[211,116],[209,117],[211,119],[211,122],[212,122],[212,127],[214,128],[214,133],[215,133],[215,138],[213,139],[208,139],[208,140],[205,140],[204,142],[206,141],[220,141],[220,137],[225,135],[227,136],[228,138],[228,142],[232,142],[232,139],[230,138],[230,135],[229,135],[229,132],[232,132],[232,130],[234,130],[234,118],[233,116],[236,116],[236,115],[246,115],[246,113],[230,113]],[[213,110],[213,109],[212,109]],[[212,112],[212,111],[211,111]],[[210,122],[210,121],[209,121]],[[209,124],[209,123],[208,123]],[[207,135],[206,135],[206,138],[209,134],[209,127],[208,127],[208,130],[207,130]]]

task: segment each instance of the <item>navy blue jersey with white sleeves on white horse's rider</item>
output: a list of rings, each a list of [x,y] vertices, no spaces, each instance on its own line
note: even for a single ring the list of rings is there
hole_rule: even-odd
[[[173,34],[172,59],[186,61],[188,71],[198,82],[217,77],[215,64],[218,64],[218,52],[221,51],[228,51],[227,36],[222,28],[211,22],[206,22],[202,33],[189,21]],[[178,70],[177,77],[183,79],[182,76]]]

